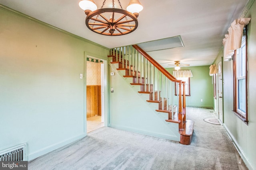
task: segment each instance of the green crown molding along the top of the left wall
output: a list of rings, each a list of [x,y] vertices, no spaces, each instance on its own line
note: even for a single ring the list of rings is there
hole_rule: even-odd
[[[80,37],[80,36],[78,36],[78,35],[72,34],[72,33],[68,32],[68,31],[65,31],[65,30],[63,30],[63,29],[60,29],[60,28],[55,27],[55,26],[53,26],[53,25],[50,25],[50,24],[48,24],[48,23],[46,23],[46,22],[40,21],[40,20],[38,20],[38,19],[36,19],[36,18],[30,17],[30,16],[28,16],[28,15],[26,15],[26,14],[23,14],[23,13],[21,13],[21,12],[18,12],[18,11],[16,11],[16,10],[13,10],[13,9],[7,7],[7,6],[2,5],[2,4],[0,4],[0,9],[5,10],[5,11],[7,11],[7,12],[10,12],[10,13],[12,13],[12,14],[14,14],[14,15],[19,16],[19,17],[25,18],[25,19],[27,19],[27,20],[36,22],[36,23],[38,23],[38,24],[40,24],[40,25],[44,25],[44,26],[46,26],[46,27],[48,27],[48,28],[54,29],[55,31],[59,31],[59,32],[64,33],[64,34],[66,34],[66,35],[70,35],[71,37],[74,37],[74,38],[76,38],[76,39],[80,39],[80,40],[85,41],[85,42],[87,42],[87,43],[94,44],[94,45],[98,45],[98,46],[100,46],[100,47],[102,47],[102,48],[105,48],[105,49],[110,50],[109,48],[104,47],[104,46],[102,46],[102,45],[99,45],[99,44],[97,44],[97,43],[94,43],[93,41],[90,41],[90,40],[85,39],[85,38],[83,38],[83,37]]]

